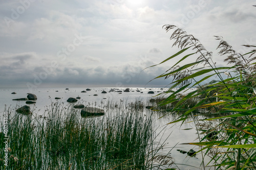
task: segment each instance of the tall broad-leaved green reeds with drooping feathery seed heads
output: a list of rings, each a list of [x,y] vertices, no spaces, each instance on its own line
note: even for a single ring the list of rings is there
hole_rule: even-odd
[[[165,116],[178,115],[169,124],[185,123],[193,118],[198,134],[203,137],[198,135],[200,142],[184,144],[201,147],[198,152],[202,153],[203,169],[256,169],[256,46],[245,44],[248,53],[239,54],[222,37],[215,36],[219,41],[217,55],[224,58],[224,63],[220,64],[193,35],[174,25],[165,25],[163,29],[173,31],[170,40],[175,41],[173,46],[181,49],[157,64],[178,59],[155,78],[172,78],[170,88],[161,93],[167,98],[158,105],[172,105]],[[204,83],[207,81],[209,83]],[[175,87],[181,88],[175,91]],[[196,90],[177,98],[186,88]],[[202,118],[205,113],[214,117]],[[211,157],[209,162],[204,160],[206,155]]]

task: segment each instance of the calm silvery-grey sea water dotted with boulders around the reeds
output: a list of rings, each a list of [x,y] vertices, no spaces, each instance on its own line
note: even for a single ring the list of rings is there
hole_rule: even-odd
[[[69,104],[67,102],[68,98],[76,98],[77,96],[80,96],[80,100],[78,101],[79,104],[83,104],[85,106],[94,106],[100,107],[107,102],[117,102],[123,101],[125,103],[131,103],[135,101],[141,101],[146,102],[149,99],[153,98],[156,94],[159,94],[160,92],[166,91],[167,88],[130,88],[130,92],[122,92],[119,94],[119,92],[110,92],[112,88],[90,88],[90,91],[87,91],[85,93],[82,93],[81,91],[86,90],[87,88],[69,88],[66,90],[66,88],[37,88],[32,91],[30,91],[28,88],[0,88],[0,116],[1,119],[4,114],[4,108],[6,107],[12,107],[15,109],[15,107],[21,107],[26,105],[26,101],[13,101],[12,99],[18,99],[18,98],[26,98],[27,93],[33,93],[37,96],[36,104],[30,105],[32,109],[35,109],[35,112],[40,115],[43,114],[46,106],[50,106],[51,103],[57,102],[55,98],[61,98],[58,100],[58,102],[63,102],[65,105]],[[115,91],[123,91],[125,88],[119,88],[115,89]],[[102,91],[106,91],[107,93],[101,93]],[[137,90],[140,90],[138,92]],[[148,91],[154,91],[154,94],[148,94]],[[12,92],[16,92],[16,94],[11,94]],[[141,93],[143,92],[143,93]],[[94,94],[97,94],[97,96],[94,96]],[[184,150],[189,151],[190,149],[194,149],[195,151],[198,151],[198,147],[194,147],[193,145],[184,145],[181,143],[188,143],[188,142],[197,142],[198,135],[196,134],[195,125],[193,124],[184,124],[180,125],[168,125],[165,126],[167,123],[169,123],[172,119],[168,116],[165,118],[158,119],[156,117],[155,125],[158,128],[157,133],[159,133],[157,137],[157,142],[163,143],[165,139],[166,145],[165,149],[162,150],[163,153],[168,153],[173,147],[175,147],[170,153],[171,156],[174,157],[175,163],[177,163],[178,167],[180,169],[201,169],[196,168],[200,167],[202,157],[201,155],[197,155],[195,157],[189,157],[186,154],[181,154],[177,151]],[[190,129],[192,128],[192,129]],[[184,129],[190,129],[190,130],[184,130]],[[162,131],[163,130],[163,131]],[[187,164],[187,165],[193,165],[196,167],[191,166],[184,166],[179,164]],[[175,167],[175,166],[172,166]],[[205,169],[214,169],[214,168],[205,168]]]

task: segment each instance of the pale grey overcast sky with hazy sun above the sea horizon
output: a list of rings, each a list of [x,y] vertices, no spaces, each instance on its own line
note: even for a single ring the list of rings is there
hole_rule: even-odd
[[[252,5],[255,1],[0,1],[0,87],[165,86],[171,79],[146,83],[176,60],[143,70],[179,51],[163,25],[193,34],[221,65],[213,36],[240,53],[247,51],[242,44],[256,45]]]

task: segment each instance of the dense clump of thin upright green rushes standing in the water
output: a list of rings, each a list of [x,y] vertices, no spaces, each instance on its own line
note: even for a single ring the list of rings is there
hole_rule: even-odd
[[[1,169],[159,169],[161,166],[154,159],[158,149],[154,147],[153,120],[136,107],[119,106],[108,110],[105,116],[87,118],[81,118],[80,110],[73,105],[59,103],[47,107],[45,114],[39,116],[6,111],[11,151],[8,166],[0,161]],[[4,148],[3,142],[0,147]],[[4,157],[4,150],[0,154]]]

